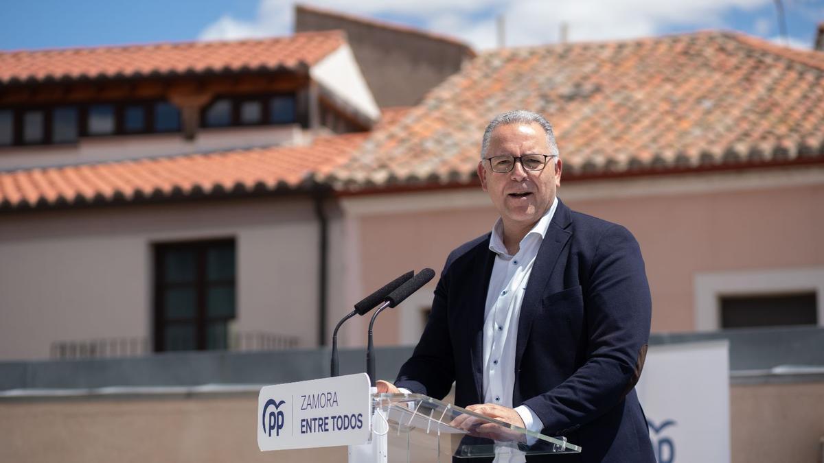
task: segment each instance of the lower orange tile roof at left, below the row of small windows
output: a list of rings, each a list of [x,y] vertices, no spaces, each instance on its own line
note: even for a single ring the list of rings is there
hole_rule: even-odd
[[[138,161],[0,172],[0,210],[305,189],[346,161],[367,133]]]

